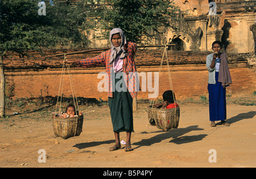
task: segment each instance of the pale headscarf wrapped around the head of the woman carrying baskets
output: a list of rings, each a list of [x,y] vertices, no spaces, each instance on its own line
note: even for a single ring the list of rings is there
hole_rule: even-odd
[[[118,47],[115,47],[113,44],[112,44],[112,36],[114,34],[119,34],[121,36],[121,45],[118,46]],[[120,59],[123,59],[127,56],[127,53],[124,49],[124,45],[126,44],[126,38],[125,38],[125,34],[123,33],[122,29],[121,28],[114,28],[112,29],[112,31],[110,31],[110,35],[109,35],[109,40],[110,40],[110,44],[111,44],[111,53],[110,53],[110,63],[113,63],[115,58],[120,55]]]

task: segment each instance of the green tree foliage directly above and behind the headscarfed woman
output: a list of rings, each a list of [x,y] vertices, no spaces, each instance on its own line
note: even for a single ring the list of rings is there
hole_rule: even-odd
[[[159,27],[168,27],[179,8],[174,2],[165,0],[106,0],[101,13],[101,23],[108,32],[121,28],[127,40],[142,42],[142,37],[154,37],[160,33]]]

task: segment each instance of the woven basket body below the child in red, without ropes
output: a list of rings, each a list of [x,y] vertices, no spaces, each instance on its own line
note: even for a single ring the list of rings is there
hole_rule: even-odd
[[[172,109],[160,109],[148,107],[148,121],[151,125],[168,131],[170,129],[177,129],[180,120],[180,107]]]

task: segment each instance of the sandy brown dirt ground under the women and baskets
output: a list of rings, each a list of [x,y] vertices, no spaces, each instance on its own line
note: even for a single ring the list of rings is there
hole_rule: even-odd
[[[114,134],[108,105],[81,106],[78,137],[55,138],[55,106],[35,104],[7,109],[0,121],[0,167],[14,168],[175,168],[256,167],[256,107],[228,104],[230,126],[210,127],[207,104],[180,104],[178,129],[147,125],[148,104],[138,104],[131,137],[133,151],[109,151]],[[16,114],[16,113],[18,114]],[[121,133],[121,140],[126,134]],[[46,151],[46,162],[38,159]],[[212,152],[213,151],[213,152]],[[212,162],[216,159],[216,162]]]

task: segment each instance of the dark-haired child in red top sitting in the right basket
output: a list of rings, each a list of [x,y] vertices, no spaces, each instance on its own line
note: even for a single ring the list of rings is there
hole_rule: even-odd
[[[165,91],[163,93],[163,103],[155,104],[155,108],[162,108],[162,109],[171,109],[177,108],[177,103],[175,101],[175,94],[171,90]]]

